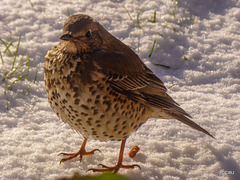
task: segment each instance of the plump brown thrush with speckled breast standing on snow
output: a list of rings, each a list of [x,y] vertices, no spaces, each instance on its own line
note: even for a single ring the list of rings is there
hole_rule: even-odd
[[[45,56],[47,97],[56,115],[84,138],[77,153],[61,153],[61,163],[100,151],[86,151],[87,140],[94,139],[121,141],[121,146],[115,166],[100,164],[89,171],[140,168],[124,165],[123,153],[127,138],[149,118],[176,119],[213,137],[168,95],[130,47],[92,17],[70,16],[60,40]]]

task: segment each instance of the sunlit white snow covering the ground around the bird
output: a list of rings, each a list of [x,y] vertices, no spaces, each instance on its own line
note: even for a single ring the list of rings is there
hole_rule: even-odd
[[[27,62],[27,54],[31,60],[28,80],[23,78],[5,91],[7,80],[9,86],[27,70],[21,72],[20,68],[14,74],[13,69],[2,81],[11,70],[14,54],[11,57],[0,42],[0,179],[56,179],[74,172],[86,175],[91,174],[86,173],[88,168],[99,163],[113,165],[117,161],[120,142],[90,140],[87,149],[99,148],[102,153],[84,157],[81,163],[73,160],[59,164],[58,153],[76,152],[83,140],[53,113],[43,82],[44,56],[59,41],[68,11],[94,17],[131,46],[167,87],[177,83],[169,94],[216,137],[214,140],[176,120],[150,119],[129,137],[124,154],[125,164],[138,164],[142,170],[120,170],[120,174],[131,179],[240,177],[240,2],[175,2],[0,2],[0,38],[7,45],[13,41],[9,47],[13,53],[21,34],[14,67],[21,57]],[[147,22],[153,20],[154,10],[156,22]],[[136,20],[138,12],[141,29]],[[141,150],[130,159],[127,153],[134,145]]]

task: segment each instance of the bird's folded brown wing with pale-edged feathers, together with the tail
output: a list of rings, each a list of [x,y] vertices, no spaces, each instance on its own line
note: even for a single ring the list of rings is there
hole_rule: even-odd
[[[89,60],[106,75],[107,82],[116,92],[144,105],[161,109],[169,116],[213,137],[190,120],[191,116],[167,94],[163,82],[137,55],[99,50],[92,53]]]

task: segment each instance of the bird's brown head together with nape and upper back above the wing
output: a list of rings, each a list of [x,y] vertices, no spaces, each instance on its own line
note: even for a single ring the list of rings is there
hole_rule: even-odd
[[[84,14],[76,14],[66,20],[60,39],[65,41],[64,50],[74,54],[108,50],[136,56],[101,24]]]

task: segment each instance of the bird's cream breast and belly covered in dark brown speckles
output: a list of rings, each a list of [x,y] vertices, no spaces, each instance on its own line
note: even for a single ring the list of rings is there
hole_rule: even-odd
[[[122,140],[149,118],[148,107],[115,92],[99,72],[84,80],[83,60],[56,49],[45,57],[48,101],[74,130],[85,138]]]

